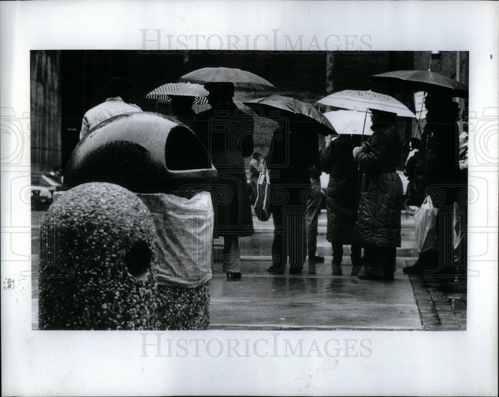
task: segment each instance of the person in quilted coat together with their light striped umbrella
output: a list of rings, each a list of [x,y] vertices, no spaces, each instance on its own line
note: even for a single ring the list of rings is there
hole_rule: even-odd
[[[397,247],[401,245],[400,206],[402,181],[396,173],[402,144],[396,116],[415,118],[403,103],[374,91],[343,90],[320,99],[320,104],[365,112],[371,111],[372,135],[356,146],[353,157],[362,173],[360,202],[352,243],[364,248],[362,279],[393,279]]]

